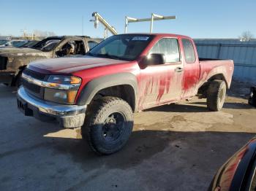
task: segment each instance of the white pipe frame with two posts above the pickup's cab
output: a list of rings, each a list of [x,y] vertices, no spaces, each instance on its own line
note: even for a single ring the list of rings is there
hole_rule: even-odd
[[[176,16],[162,16],[162,15],[157,15],[157,14],[151,13],[150,18],[125,17],[124,33],[127,33],[127,28],[128,28],[129,23],[150,21],[151,22],[150,33],[152,33],[154,20],[171,20],[171,19],[176,19]]]

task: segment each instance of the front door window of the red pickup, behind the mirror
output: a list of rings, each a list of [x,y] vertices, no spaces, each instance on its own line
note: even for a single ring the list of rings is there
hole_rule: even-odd
[[[164,54],[167,63],[179,62],[178,40],[171,38],[160,39],[150,50],[149,54]]]

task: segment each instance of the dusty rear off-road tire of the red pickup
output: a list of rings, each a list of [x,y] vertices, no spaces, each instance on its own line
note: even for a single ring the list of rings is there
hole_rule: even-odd
[[[207,90],[207,108],[210,111],[218,112],[222,109],[226,96],[226,83],[215,79],[210,83]]]

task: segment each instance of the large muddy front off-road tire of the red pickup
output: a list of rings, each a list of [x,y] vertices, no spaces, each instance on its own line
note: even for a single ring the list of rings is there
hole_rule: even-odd
[[[113,141],[106,140],[103,132],[105,121],[111,114],[119,114],[125,119],[124,122],[118,123],[122,124],[118,125],[118,127],[121,126],[122,131],[120,130],[120,136]],[[87,139],[94,152],[100,155],[110,155],[124,147],[132,133],[132,128],[133,112],[129,104],[121,98],[103,97],[89,105],[81,133],[83,139]]]

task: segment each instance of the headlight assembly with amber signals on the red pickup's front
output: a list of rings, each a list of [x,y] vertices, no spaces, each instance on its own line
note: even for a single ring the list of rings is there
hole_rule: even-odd
[[[50,82],[50,83],[49,83]],[[50,76],[45,87],[44,98],[60,104],[74,104],[81,79],[79,77]]]

